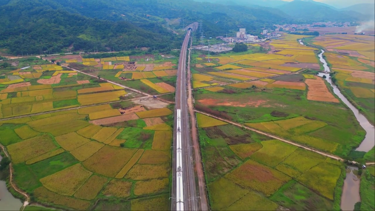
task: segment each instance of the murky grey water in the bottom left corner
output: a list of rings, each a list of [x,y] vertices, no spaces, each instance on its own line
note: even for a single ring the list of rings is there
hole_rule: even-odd
[[[2,157],[0,156],[0,160]],[[20,199],[15,198],[6,187],[6,182],[0,180],[0,211],[19,211],[22,206]]]

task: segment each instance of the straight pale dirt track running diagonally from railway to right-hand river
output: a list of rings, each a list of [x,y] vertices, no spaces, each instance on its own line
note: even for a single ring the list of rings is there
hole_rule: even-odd
[[[223,121],[223,122],[227,122],[229,124],[232,124],[232,125],[236,125],[238,127],[243,127],[243,128],[246,128],[248,130],[251,130],[251,131],[254,131],[255,133],[259,133],[259,134],[262,134],[264,136],[268,136],[272,139],[277,139],[279,141],[282,141],[282,142],[285,142],[285,143],[288,143],[288,144],[291,144],[291,145],[294,145],[294,146],[297,146],[299,148],[303,148],[303,149],[306,149],[308,151],[312,151],[312,152],[316,152],[320,155],[323,155],[325,157],[329,157],[329,158],[332,158],[332,159],[335,159],[335,160],[338,160],[338,161],[344,161],[344,159],[342,159],[341,157],[338,157],[336,155],[332,155],[332,154],[329,154],[329,153],[326,153],[326,152],[321,152],[321,151],[318,151],[317,149],[313,149],[313,148],[309,148],[309,147],[306,147],[306,146],[303,146],[303,145],[299,145],[298,143],[295,143],[295,142],[292,142],[292,141],[289,141],[287,139],[282,139],[281,137],[278,137],[278,136],[275,136],[273,134],[269,134],[269,133],[265,133],[263,131],[260,131],[260,130],[256,130],[254,128],[251,128],[251,127],[248,127],[246,125],[242,125],[242,124],[239,124],[239,123],[236,123],[236,122],[232,122],[232,121],[229,121],[227,119],[222,119],[222,118],[219,118],[217,116],[214,116],[214,115],[211,115],[209,113],[205,113],[205,112],[201,112],[201,111],[198,111],[198,110],[195,110],[195,112],[197,113],[201,113],[203,115],[207,115],[207,116],[210,116],[212,118],[215,118],[215,119],[219,119],[220,121]],[[354,164],[356,164],[357,162],[355,161],[352,161]],[[366,165],[372,165],[372,164],[375,164],[375,163],[366,163]]]

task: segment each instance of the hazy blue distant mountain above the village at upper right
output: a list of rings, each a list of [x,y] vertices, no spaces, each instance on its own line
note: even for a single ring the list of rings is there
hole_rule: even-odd
[[[357,12],[337,11],[312,0],[294,0],[278,8],[300,21],[359,21],[364,18]]]

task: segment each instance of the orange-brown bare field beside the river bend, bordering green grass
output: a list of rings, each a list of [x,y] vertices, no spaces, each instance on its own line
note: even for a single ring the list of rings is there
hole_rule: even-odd
[[[324,102],[340,102],[333,94],[328,90],[324,80],[320,77],[316,79],[306,79],[305,83],[308,85],[307,99],[314,101]]]

